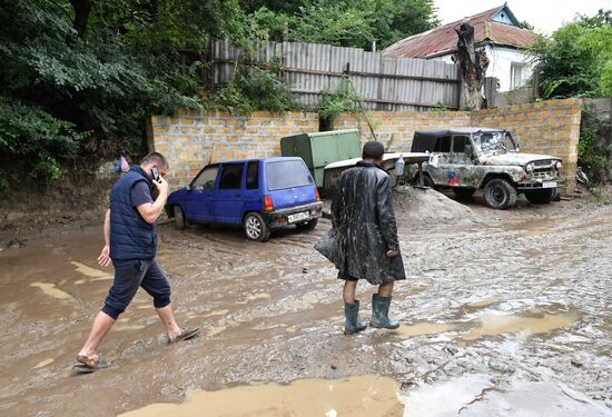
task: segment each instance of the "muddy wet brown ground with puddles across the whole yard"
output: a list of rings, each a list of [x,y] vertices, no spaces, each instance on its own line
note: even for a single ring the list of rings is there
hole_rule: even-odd
[[[612,207],[468,206],[418,221],[398,205],[403,326],[353,337],[313,250],[328,220],[267,244],[161,225],[177,318],[203,335],[168,346],[139,292],[100,349],[110,367],[86,376],[70,367],[111,284],[101,227],[2,235],[0,415],[612,415]]]

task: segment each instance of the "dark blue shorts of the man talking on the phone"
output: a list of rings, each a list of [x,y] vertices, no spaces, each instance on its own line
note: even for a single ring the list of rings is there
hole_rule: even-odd
[[[115,281],[108,291],[102,311],[117,319],[131,302],[138,287],[154,298],[155,308],[170,304],[170,282],[154,259],[113,259]]]

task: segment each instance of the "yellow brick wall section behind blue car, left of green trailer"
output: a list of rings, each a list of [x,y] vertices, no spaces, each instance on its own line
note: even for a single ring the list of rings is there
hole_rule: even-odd
[[[318,131],[318,115],[179,110],[176,116],[151,116],[148,125],[149,150],[168,158],[170,186],[176,189],[189,183],[209,159],[280,156],[280,138]]]

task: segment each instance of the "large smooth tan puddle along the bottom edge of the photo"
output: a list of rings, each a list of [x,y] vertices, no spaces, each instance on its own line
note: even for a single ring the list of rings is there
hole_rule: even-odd
[[[250,385],[220,391],[188,390],[181,404],[152,404],[121,416],[392,417],[404,414],[398,394],[398,383],[376,376],[300,379],[289,385]]]

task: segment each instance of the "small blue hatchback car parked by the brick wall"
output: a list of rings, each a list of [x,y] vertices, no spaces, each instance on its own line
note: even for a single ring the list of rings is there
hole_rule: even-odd
[[[267,158],[206,166],[168,197],[166,212],[187,222],[241,226],[248,239],[266,241],[272,229],[314,229],[322,215],[313,176],[302,158]]]

